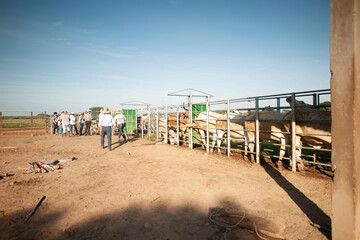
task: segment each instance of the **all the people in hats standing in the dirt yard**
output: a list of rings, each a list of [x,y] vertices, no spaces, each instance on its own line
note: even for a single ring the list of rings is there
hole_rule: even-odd
[[[126,125],[126,117],[124,116],[123,112],[119,109],[116,109],[114,112],[115,116],[111,115],[111,111],[108,108],[103,108],[100,110],[99,114],[99,123],[98,127],[100,128],[100,143],[101,147],[104,148],[104,140],[105,135],[107,135],[108,139],[108,148],[111,151],[111,136],[113,127],[116,125],[119,129],[119,140],[121,137],[127,141],[124,128]],[[53,122],[53,134],[57,131],[58,135],[62,136],[75,136],[75,135],[83,135],[82,131],[85,125],[85,136],[90,135],[90,127],[91,121],[93,120],[91,116],[91,110],[88,109],[86,114],[81,112],[78,116],[79,122],[79,131],[77,129],[77,121],[75,117],[75,113],[71,112],[70,114],[63,110],[60,114],[54,112],[54,116],[52,118]]]

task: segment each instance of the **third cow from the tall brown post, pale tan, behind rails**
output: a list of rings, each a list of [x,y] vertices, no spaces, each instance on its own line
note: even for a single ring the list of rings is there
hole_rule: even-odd
[[[245,140],[245,155],[247,155],[247,138],[244,132],[244,123],[247,115],[240,113],[230,112],[230,137],[236,140]],[[226,115],[220,116],[216,120],[216,135],[217,135],[217,149],[220,152],[221,142],[227,136],[227,117]]]

